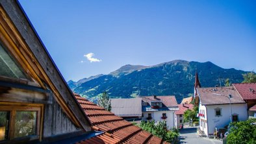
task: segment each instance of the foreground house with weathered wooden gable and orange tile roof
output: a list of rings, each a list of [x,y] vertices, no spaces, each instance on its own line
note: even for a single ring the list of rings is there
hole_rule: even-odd
[[[164,143],[68,88],[18,1],[0,1],[0,143]]]

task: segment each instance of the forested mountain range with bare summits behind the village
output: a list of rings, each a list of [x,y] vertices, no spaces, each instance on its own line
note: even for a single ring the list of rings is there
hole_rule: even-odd
[[[212,62],[173,60],[155,66],[125,65],[109,75],[96,75],[77,82],[69,80],[68,86],[90,101],[96,101],[97,95],[107,91],[112,98],[175,95],[180,102],[194,93],[196,71],[202,87],[224,86],[226,78],[231,83],[240,83],[242,74],[248,73],[224,69]]]

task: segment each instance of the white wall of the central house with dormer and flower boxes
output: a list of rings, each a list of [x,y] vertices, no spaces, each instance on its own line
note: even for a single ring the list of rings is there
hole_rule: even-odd
[[[162,114],[166,113],[167,119],[162,119]],[[155,111],[155,112],[142,112],[142,114],[144,114],[144,117],[142,117],[143,121],[147,121],[147,116],[148,114],[151,114],[152,119],[151,120],[155,120],[155,122],[157,123],[157,121],[166,121],[166,125],[168,126],[169,129],[175,127],[175,114],[173,114],[174,111]]]

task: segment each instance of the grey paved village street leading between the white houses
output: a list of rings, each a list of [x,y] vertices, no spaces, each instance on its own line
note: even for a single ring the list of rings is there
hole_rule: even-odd
[[[179,130],[179,134],[179,143],[222,144],[218,139],[199,138],[196,127],[183,128]]]

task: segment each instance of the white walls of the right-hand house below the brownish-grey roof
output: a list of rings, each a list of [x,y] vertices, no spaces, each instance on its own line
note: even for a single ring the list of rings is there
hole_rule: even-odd
[[[201,104],[200,104],[201,105]],[[215,115],[215,109],[221,108],[221,116]],[[209,134],[214,134],[215,128],[224,128],[224,126],[229,125],[230,123],[230,107],[229,104],[221,105],[207,105],[200,106],[199,113],[201,110],[206,110],[205,117],[200,117],[201,119],[207,120],[205,124],[206,128],[200,125],[200,129],[209,136]],[[238,115],[238,121],[245,121],[248,119],[247,104],[231,104],[232,115]],[[200,122],[201,123],[201,122]],[[208,129],[207,129],[208,128]]]

